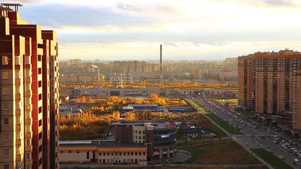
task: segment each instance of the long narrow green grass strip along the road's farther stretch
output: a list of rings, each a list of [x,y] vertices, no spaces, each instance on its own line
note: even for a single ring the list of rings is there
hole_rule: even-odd
[[[214,113],[210,112],[209,110],[206,110],[200,103],[198,103],[194,100],[188,100],[188,102],[191,103],[192,105],[194,105],[197,109],[199,109],[201,112],[203,112],[208,118],[213,120],[216,124],[218,124],[220,127],[224,128],[230,134],[243,134],[240,130],[238,130],[235,127],[230,126],[227,122],[223,121],[220,117],[218,117]]]

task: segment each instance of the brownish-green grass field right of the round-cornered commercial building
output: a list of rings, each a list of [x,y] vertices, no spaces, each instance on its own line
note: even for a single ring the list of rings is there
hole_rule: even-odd
[[[192,153],[185,164],[228,164],[251,165],[261,164],[254,156],[235,141],[180,148]]]

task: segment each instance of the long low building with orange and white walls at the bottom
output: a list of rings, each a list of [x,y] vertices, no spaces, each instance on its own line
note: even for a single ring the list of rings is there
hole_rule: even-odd
[[[59,162],[136,163],[147,165],[147,146],[116,141],[59,141]]]

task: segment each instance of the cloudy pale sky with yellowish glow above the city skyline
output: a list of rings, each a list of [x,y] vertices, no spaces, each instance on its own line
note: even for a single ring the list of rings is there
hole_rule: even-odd
[[[0,0],[57,32],[60,59],[215,60],[301,51],[301,0]]]

